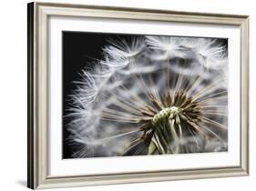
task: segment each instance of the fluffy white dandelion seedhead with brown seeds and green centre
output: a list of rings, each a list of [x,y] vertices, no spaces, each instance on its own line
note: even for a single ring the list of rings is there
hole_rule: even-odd
[[[72,157],[227,151],[227,45],[148,35],[102,53],[69,100]]]

